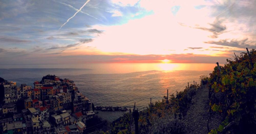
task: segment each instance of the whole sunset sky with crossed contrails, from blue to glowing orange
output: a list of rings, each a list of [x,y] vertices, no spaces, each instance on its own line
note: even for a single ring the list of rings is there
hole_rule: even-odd
[[[256,46],[256,0],[0,1],[0,64],[225,63]]]

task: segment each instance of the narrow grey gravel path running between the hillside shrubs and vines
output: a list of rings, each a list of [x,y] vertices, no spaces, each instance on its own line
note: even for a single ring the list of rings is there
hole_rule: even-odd
[[[207,86],[202,86],[196,91],[196,95],[193,96],[191,105],[185,116],[186,121],[186,133],[208,133],[207,122],[210,116],[209,114],[209,99],[208,99],[208,88]],[[210,130],[214,126],[218,126],[220,122],[220,116],[214,114],[211,116],[209,121]]]

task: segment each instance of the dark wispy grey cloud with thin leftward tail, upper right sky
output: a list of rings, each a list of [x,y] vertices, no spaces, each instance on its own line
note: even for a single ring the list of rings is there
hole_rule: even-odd
[[[223,25],[220,21],[216,21],[209,25],[211,25],[211,28],[205,28],[205,27],[194,27],[194,28],[202,29],[202,30],[213,33],[213,35],[210,36],[211,38],[218,38],[218,35],[224,33],[225,30],[227,29],[227,27]]]

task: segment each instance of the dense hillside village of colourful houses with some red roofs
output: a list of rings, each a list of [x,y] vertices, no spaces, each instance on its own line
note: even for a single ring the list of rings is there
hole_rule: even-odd
[[[92,101],[79,92],[74,81],[47,75],[34,87],[16,82],[0,83],[0,133],[78,134],[92,118]]]

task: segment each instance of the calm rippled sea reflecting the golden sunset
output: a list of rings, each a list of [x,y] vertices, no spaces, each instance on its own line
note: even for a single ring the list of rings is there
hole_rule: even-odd
[[[120,106],[143,110],[163,96],[176,94],[187,84],[200,84],[200,76],[209,76],[216,64],[204,63],[107,63],[107,64],[23,64],[0,65],[0,77],[17,85],[40,81],[51,74],[74,81],[79,91],[94,106]],[[114,121],[121,111],[102,112],[98,116]]]

